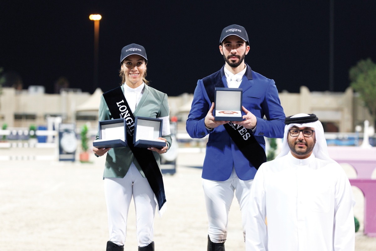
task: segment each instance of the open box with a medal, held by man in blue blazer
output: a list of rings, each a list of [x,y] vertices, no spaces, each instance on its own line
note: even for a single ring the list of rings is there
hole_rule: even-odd
[[[243,121],[241,115],[242,88],[216,87],[214,95],[214,120]]]

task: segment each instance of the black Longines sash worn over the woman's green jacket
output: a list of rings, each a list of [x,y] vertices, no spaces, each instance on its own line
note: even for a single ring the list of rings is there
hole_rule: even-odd
[[[133,132],[135,129],[135,116],[129,109],[127,100],[121,90],[121,86],[112,89],[111,91],[103,93],[103,97],[107,103],[108,109],[111,112],[112,118],[125,118],[127,121],[127,146],[132,150],[137,162],[140,164],[147,181],[150,184],[157,200],[159,210],[166,202],[164,192],[164,185],[161,171],[152,151],[146,148],[139,148],[133,146]]]

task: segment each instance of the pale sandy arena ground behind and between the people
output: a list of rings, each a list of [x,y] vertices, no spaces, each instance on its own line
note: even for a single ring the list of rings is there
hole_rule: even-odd
[[[41,150],[20,149],[17,154],[41,154]],[[0,157],[9,154],[14,151],[0,149]],[[203,157],[202,153],[180,153],[176,174],[164,175],[167,211],[162,218],[155,217],[156,250],[206,250],[208,222],[201,169],[191,167],[202,166]],[[0,161],[0,250],[104,251],[108,240],[102,180],[105,158],[91,156],[91,161]],[[354,177],[352,168],[344,169]],[[376,238],[362,234],[364,197],[356,187],[353,192],[354,213],[361,222],[355,250],[374,251]],[[124,250],[137,250],[133,203]],[[236,199],[230,209],[226,250],[245,250]]]

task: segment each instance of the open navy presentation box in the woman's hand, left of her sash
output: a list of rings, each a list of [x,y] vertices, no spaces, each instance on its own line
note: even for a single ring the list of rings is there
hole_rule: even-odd
[[[96,148],[127,146],[127,125],[124,118],[99,121],[99,139],[93,141]]]

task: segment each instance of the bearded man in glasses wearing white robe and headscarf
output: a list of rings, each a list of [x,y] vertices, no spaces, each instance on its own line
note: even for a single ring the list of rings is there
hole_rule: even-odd
[[[263,163],[250,192],[247,251],[353,251],[355,201],[329,157],[314,114],[285,119],[281,153]]]

